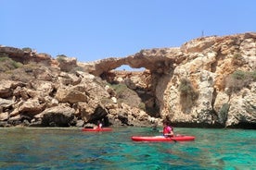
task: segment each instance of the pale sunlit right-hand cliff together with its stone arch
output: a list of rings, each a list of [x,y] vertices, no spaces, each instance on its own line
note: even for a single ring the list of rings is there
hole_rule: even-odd
[[[128,80],[127,75],[133,73],[126,77],[116,75],[115,79],[129,82],[131,89],[141,86],[153,92],[160,117],[168,116],[174,124],[255,128],[255,97],[251,84],[254,80],[236,93],[230,93],[232,86],[227,82],[229,75],[237,70],[246,74],[255,71],[255,39],[255,32],[201,37],[181,47],[141,50],[125,58],[98,60],[87,63],[86,68],[96,76],[122,65],[146,68],[147,79],[150,79],[147,85],[141,85],[146,82],[141,76],[134,79],[134,75]],[[182,79],[189,81],[195,94],[181,94]]]

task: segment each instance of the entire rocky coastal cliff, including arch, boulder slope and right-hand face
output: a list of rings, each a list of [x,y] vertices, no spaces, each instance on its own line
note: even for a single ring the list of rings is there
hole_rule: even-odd
[[[91,63],[13,49],[0,47],[22,63],[1,70],[2,126],[150,126],[167,117],[182,127],[256,128],[254,32]],[[113,70],[122,65],[146,70]]]

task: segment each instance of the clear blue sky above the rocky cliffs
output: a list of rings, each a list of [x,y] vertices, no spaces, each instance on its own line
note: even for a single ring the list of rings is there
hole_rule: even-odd
[[[0,44],[89,62],[256,30],[255,0],[0,0]]]

